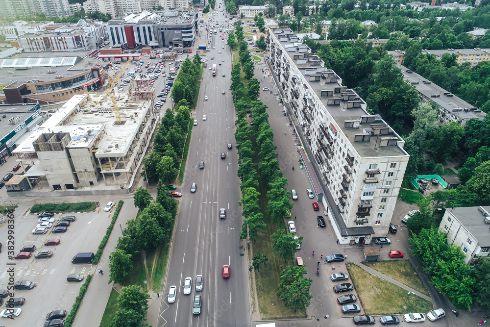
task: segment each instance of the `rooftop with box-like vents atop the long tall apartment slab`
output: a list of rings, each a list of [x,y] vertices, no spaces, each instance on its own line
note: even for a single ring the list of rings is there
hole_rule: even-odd
[[[307,45],[299,42],[299,38],[289,28],[274,28],[274,36],[280,41],[282,50],[293,59],[296,67],[299,69],[303,77],[308,81],[305,89],[315,92],[323,106],[328,110],[334,118],[342,132],[349,139],[354,149],[362,157],[384,157],[384,156],[406,156],[408,155],[401,147],[398,146],[380,146],[380,141],[384,137],[392,137],[396,139],[397,144],[403,146],[403,139],[396,134],[391,127],[377,117],[374,124],[385,124],[384,128],[388,134],[373,135],[370,142],[356,142],[356,135],[363,133],[363,128],[368,128],[369,125],[360,125],[359,127],[349,127],[349,121],[357,121],[361,116],[369,116],[364,109],[367,104],[354,91],[342,86],[342,79],[331,69],[323,67],[324,63],[318,56],[313,55]],[[305,57],[306,55],[306,57]],[[294,78],[294,77],[293,77]],[[326,95],[328,91],[332,95]],[[308,99],[307,99],[308,101]],[[334,103],[332,103],[334,102]],[[353,107],[352,105],[360,105]],[[319,117],[325,117],[322,113],[322,108]],[[328,129],[328,126],[323,126]],[[379,138],[379,139],[378,139]]]

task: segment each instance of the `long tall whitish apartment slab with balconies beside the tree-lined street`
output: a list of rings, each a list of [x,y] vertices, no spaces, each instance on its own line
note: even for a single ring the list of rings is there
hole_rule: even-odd
[[[271,28],[268,48],[306,172],[340,242],[386,236],[409,159],[404,140],[291,29]]]

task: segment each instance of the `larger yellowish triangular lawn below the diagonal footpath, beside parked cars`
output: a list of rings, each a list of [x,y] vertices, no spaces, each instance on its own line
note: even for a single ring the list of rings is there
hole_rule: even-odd
[[[371,275],[353,263],[347,263],[346,266],[365,314],[388,315],[432,310],[431,302],[414,294],[408,295],[405,289]]]

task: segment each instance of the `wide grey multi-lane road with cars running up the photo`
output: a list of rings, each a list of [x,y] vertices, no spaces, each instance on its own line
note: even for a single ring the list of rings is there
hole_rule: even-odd
[[[217,15],[213,24],[224,24],[224,19],[222,14]],[[183,195],[179,199],[158,326],[250,326],[248,264],[239,239],[242,217],[237,204],[240,189],[234,144],[236,117],[229,91],[232,59],[221,36],[213,35],[206,46],[216,47],[216,50],[206,52],[206,58],[208,68],[216,63],[217,74],[213,76],[211,70],[204,69],[193,114],[198,124],[192,132],[184,184],[179,190]],[[225,94],[222,94],[223,90]],[[203,115],[206,115],[205,121]],[[228,150],[228,143],[232,144],[231,150]],[[221,152],[226,154],[224,159]],[[205,164],[203,169],[198,168],[201,160]],[[191,193],[194,182],[197,191]],[[220,208],[226,210],[225,219],[219,217]],[[231,268],[229,278],[222,276],[225,264]],[[202,275],[204,279],[200,292],[194,285],[196,275]],[[193,279],[189,295],[183,294],[186,277]],[[177,286],[177,297],[169,304],[166,297],[172,285]],[[201,295],[202,299],[199,315],[192,313],[195,295]]]

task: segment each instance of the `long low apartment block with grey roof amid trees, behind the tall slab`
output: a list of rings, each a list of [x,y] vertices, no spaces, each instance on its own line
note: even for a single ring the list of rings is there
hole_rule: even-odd
[[[484,119],[487,116],[485,112],[475,108],[451,92],[447,92],[430,80],[400,64],[396,64],[396,66],[401,69],[403,80],[415,87],[421,103],[434,101],[437,104],[440,110],[439,125],[456,122],[461,126],[465,126],[471,118]]]

